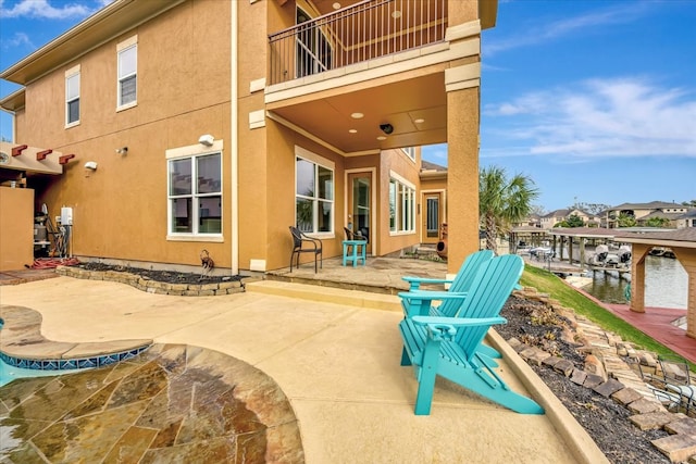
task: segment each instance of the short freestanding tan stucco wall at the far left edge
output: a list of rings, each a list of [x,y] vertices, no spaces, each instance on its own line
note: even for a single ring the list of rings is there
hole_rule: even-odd
[[[34,190],[0,186],[0,271],[34,262]]]

